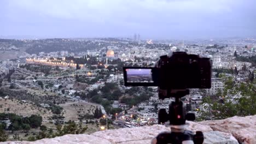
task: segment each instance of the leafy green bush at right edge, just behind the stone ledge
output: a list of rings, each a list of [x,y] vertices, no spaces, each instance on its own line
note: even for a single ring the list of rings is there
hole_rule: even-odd
[[[232,116],[248,116],[256,114],[254,83],[241,83],[231,77],[226,79],[223,93],[203,98],[203,104],[208,105],[208,111],[201,112],[201,118],[225,119]]]

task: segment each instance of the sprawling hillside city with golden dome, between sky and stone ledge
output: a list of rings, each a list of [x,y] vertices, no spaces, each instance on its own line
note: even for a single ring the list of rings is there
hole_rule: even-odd
[[[53,45],[59,48],[50,49]],[[80,47],[74,49],[76,46]],[[5,133],[10,140],[40,139],[42,133],[38,133],[38,129],[43,128],[53,128],[44,134],[58,136],[54,127],[59,124],[80,124],[81,133],[88,134],[157,124],[158,110],[168,111],[174,99],[159,100],[158,87],[125,87],[123,67],[154,67],[159,56],[176,51],[208,57],[212,61],[212,87],[190,89],[190,94],[182,98],[187,111],[195,113],[196,121],[255,113],[251,107],[251,110],[241,109],[242,113],[224,115],[224,111],[213,110],[211,106],[214,104],[211,100],[222,101],[223,105],[231,101],[234,106],[243,97],[250,100],[245,101],[245,106],[255,100],[255,91],[248,93],[247,86],[241,89],[242,85],[255,88],[255,39],[204,40],[203,43],[179,40],[148,43],[148,40],[125,38],[1,39],[0,47],[1,58],[13,57],[1,59],[0,63],[0,110],[1,117],[5,117],[1,122],[5,123]],[[150,76],[151,73],[150,69],[128,70],[131,71],[127,75],[131,76]],[[240,91],[229,93],[233,91],[229,81],[236,82],[232,85]],[[31,127],[11,119],[32,116],[39,125]]]

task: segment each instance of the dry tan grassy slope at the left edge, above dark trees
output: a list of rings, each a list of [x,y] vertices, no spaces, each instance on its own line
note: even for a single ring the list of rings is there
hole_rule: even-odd
[[[16,113],[21,116],[40,115],[43,120],[47,120],[49,116],[53,116],[51,111],[43,107],[38,107],[33,103],[24,103],[17,99],[0,99],[0,112]]]

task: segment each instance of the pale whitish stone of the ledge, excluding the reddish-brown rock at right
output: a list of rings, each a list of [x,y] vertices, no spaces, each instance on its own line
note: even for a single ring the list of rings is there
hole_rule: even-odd
[[[230,143],[238,144],[235,137],[229,133],[223,133],[220,131],[212,131],[212,129],[207,125],[201,125],[194,122],[189,122],[189,130],[201,130],[205,135],[204,143]],[[4,142],[4,143],[150,143],[153,137],[161,133],[162,131],[169,131],[170,128],[164,125],[152,125],[147,127],[139,128],[123,128],[123,129],[113,129],[106,131],[97,131],[94,134],[86,135],[65,135],[60,137],[55,137],[53,139],[43,139],[34,142]]]

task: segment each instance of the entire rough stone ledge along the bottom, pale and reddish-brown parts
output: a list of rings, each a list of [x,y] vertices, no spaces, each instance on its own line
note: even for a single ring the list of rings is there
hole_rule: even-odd
[[[256,115],[231,117],[218,121],[188,122],[188,130],[203,131],[203,143],[256,143]],[[8,141],[3,143],[150,143],[162,131],[169,131],[164,125],[152,125],[139,128],[123,128],[97,131],[91,135],[64,135],[53,139],[42,139],[34,142]]]

